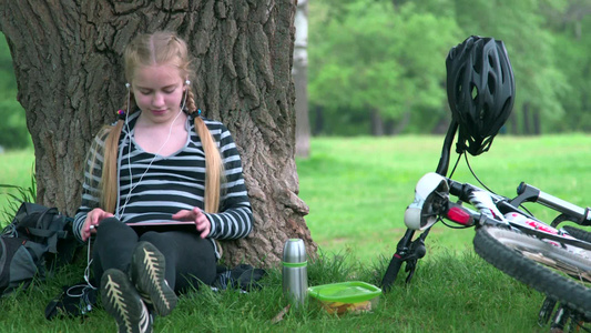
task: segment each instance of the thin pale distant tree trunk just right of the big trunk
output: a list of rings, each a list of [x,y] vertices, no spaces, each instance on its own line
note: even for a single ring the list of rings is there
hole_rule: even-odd
[[[308,1],[299,0],[295,16],[294,82],[296,110],[296,157],[309,157],[308,118]]]

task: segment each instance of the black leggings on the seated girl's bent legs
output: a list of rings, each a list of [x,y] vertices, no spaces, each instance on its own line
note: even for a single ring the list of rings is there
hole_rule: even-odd
[[[197,280],[212,284],[216,276],[215,251],[210,240],[187,231],[140,231],[115,218],[101,221],[93,244],[94,276],[100,281],[108,269],[129,272],[137,242],[152,243],[166,259],[166,281],[175,292],[197,287]]]

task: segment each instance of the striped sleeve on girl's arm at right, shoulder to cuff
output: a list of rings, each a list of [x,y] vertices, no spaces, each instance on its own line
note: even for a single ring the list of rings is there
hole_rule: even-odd
[[[216,240],[245,238],[253,229],[253,212],[244,184],[241,157],[234,139],[223,124],[220,124],[217,133],[213,129],[211,131],[214,137],[218,135],[226,181],[221,189],[220,213],[206,213],[212,224],[210,238]]]

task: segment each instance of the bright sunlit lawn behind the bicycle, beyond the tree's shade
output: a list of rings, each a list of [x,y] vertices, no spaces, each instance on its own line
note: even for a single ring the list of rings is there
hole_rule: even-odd
[[[403,214],[417,180],[435,171],[442,137],[314,138],[312,157],[297,160],[299,195],[309,205],[306,223],[326,253],[370,262],[390,256],[405,232]],[[457,154],[452,151],[452,163]],[[0,183],[30,186],[33,151],[0,154]],[[516,195],[526,181],[581,206],[591,205],[591,135],[498,137],[489,152],[470,157],[477,175],[493,191]],[[450,168],[451,170],[451,168]],[[466,162],[456,180],[477,183]],[[0,209],[6,196],[0,200]],[[530,208],[530,206],[528,206]],[[533,212],[552,219],[546,209]],[[436,225],[428,255],[471,248],[473,230]]]

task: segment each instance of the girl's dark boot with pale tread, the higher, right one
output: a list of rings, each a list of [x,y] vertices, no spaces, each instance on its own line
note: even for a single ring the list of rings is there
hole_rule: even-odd
[[[162,316],[170,314],[177,301],[164,275],[164,255],[152,243],[137,243],[131,258],[131,281],[142,300]]]

